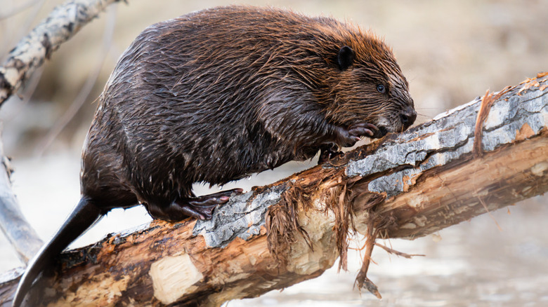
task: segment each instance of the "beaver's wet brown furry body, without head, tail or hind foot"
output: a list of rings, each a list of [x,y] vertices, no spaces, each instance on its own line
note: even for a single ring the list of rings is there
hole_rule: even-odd
[[[162,198],[311,158],[318,145],[306,142],[325,134],[346,45],[364,58],[388,50],[332,18],[275,8],[212,8],[152,25],[100,97],[84,173],[100,168],[86,161],[105,156],[95,147],[107,137],[120,164],[109,156],[100,172]]]

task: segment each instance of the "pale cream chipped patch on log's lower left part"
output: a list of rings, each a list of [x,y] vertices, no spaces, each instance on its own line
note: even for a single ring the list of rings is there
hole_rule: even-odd
[[[192,292],[192,286],[204,277],[188,254],[156,261],[150,266],[149,274],[154,296],[164,304],[174,303],[179,297]]]

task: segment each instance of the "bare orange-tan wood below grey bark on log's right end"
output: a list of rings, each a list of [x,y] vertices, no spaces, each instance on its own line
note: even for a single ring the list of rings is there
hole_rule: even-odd
[[[379,214],[398,221],[391,238],[416,238],[519,200],[548,186],[548,134],[497,149],[485,158],[425,175],[412,191],[384,202]]]

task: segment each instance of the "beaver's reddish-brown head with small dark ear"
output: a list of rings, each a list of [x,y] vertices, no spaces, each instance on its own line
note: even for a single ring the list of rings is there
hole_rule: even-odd
[[[335,52],[334,74],[329,76],[332,105],[327,117],[350,126],[372,123],[379,130],[402,132],[417,118],[407,80],[391,49],[370,34],[353,37]]]

